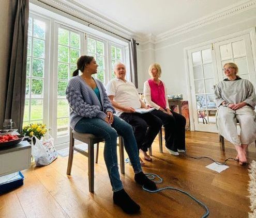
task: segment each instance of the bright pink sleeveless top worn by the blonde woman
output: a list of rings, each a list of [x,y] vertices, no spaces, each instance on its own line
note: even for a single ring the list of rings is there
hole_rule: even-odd
[[[162,81],[160,80],[159,85],[154,82],[153,79],[148,79],[148,85],[151,92],[151,100],[161,108],[166,108],[165,90]]]

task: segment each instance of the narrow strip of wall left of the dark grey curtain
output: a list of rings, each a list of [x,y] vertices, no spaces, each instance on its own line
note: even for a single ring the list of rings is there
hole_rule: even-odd
[[[0,75],[1,75],[1,86],[0,86],[0,102],[3,102],[6,93],[6,71],[8,68],[8,56],[10,53],[9,47],[9,35],[10,31],[7,28],[9,26],[9,14],[11,13],[9,8],[9,1],[0,1]],[[4,119],[5,105],[0,107],[0,129],[2,127]]]

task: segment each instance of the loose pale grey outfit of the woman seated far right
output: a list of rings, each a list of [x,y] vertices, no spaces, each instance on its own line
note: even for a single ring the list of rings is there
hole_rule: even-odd
[[[221,81],[215,88],[216,124],[221,136],[234,145],[251,144],[256,140],[256,95],[252,83],[247,79]],[[222,106],[222,102],[230,104],[247,103],[237,110]],[[237,134],[237,122],[240,125],[240,138]]]

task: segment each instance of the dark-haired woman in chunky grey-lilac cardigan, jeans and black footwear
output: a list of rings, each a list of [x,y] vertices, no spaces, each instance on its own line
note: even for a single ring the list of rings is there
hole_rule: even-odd
[[[97,73],[98,64],[94,57],[81,56],[77,61],[77,70],[69,80],[66,90],[71,109],[70,126],[77,132],[91,133],[105,140],[104,160],[113,189],[114,203],[126,213],[137,213],[140,206],[125,192],[117,165],[117,134],[124,138],[126,152],[135,173],[134,179],[149,190],[156,190],[156,185],[142,172],[137,144],[131,125],[113,115],[112,107],[103,84],[92,77]],[[79,76],[79,70],[82,75]]]

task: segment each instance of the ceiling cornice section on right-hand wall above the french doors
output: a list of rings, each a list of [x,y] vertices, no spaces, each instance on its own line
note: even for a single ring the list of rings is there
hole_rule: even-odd
[[[254,7],[256,7],[256,0],[243,1],[242,3],[239,2],[237,4],[234,4],[234,5],[230,6],[230,7],[227,7],[227,8],[221,9],[219,11],[216,11],[213,14],[209,14],[207,16],[204,16],[203,18],[200,18],[198,20],[195,20],[195,21],[192,21],[192,22],[187,23],[185,25],[179,26],[175,29],[171,29],[169,31],[160,33],[156,36],[154,43],[165,41],[169,38],[181,35],[185,32],[189,32],[191,30],[200,28],[200,27],[208,25],[210,23],[214,23],[216,21],[228,18],[229,16],[244,12],[244,11],[246,11],[248,9],[251,9],[251,8],[254,8]],[[144,41],[144,39],[142,41]]]

